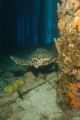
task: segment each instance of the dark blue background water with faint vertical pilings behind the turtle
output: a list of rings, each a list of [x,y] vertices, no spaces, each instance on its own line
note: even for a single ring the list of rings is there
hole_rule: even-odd
[[[42,47],[57,37],[58,0],[0,0],[0,53]]]

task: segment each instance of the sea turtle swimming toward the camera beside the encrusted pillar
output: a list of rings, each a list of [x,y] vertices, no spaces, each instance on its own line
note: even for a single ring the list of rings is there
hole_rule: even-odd
[[[25,66],[32,66],[35,68],[49,65],[55,61],[55,57],[51,51],[45,48],[36,49],[27,59],[20,59],[15,56],[10,56],[10,58],[16,63]]]

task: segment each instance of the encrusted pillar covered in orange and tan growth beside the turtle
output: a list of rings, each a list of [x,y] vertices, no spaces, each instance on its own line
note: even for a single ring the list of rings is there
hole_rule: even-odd
[[[59,38],[55,45],[61,71],[58,102],[80,109],[80,0],[61,0],[57,13]]]

